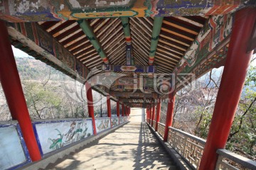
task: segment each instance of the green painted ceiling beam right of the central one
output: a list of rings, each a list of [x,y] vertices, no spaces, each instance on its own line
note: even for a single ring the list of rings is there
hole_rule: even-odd
[[[159,34],[161,31],[161,25],[163,23],[164,17],[155,17],[154,18],[154,26],[152,30],[151,36],[151,45],[150,45],[150,52],[149,52],[149,65],[154,63],[154,57],[156,55],[156,47],[159,41]]]

